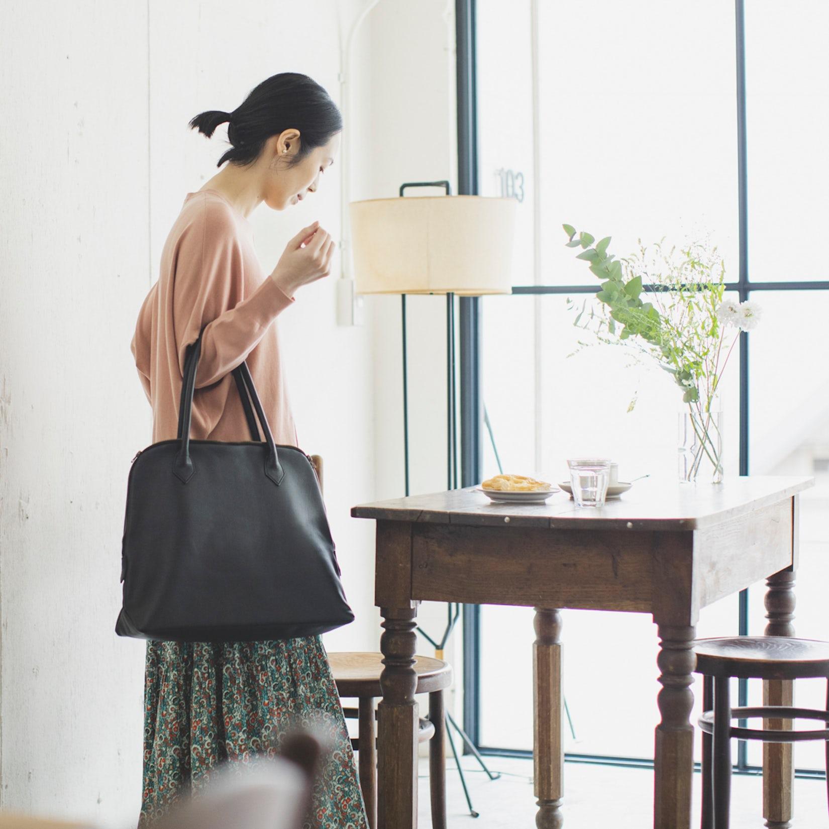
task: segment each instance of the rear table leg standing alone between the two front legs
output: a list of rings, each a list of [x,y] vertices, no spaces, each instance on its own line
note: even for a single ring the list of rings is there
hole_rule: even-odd
[[[533,645],[533,759],[538,829],[561,829],[564,816],[561,613],[536,608]]]

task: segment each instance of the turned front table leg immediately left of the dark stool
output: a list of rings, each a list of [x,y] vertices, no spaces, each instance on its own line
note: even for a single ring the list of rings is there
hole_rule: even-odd
[[[692,671],[696,667],[694,625],[659,625],[657,665],[662,691],[657,698],[662,720],[654,751],[654,829],[690,829],[694,773]]]

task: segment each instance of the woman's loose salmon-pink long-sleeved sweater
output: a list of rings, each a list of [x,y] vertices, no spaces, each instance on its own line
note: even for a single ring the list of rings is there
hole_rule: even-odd
[[[216,190],[187,193],[138,313],[130,348],[153,407],[153,443],[175,438],[187,344],[201,327],[190,436],[250,440],[230,374],[247,361],[277,444],[297,445],[275,318],[294,302],[263,271],[253,227]],[[207,324],[209,323],[209,324]]]

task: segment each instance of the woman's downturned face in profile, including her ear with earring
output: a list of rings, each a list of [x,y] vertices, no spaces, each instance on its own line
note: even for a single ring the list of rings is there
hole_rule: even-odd
[[[317,191],[320,177],[331,167],[340,148],[340,133],[334,133],[328,143],[315,147],[305,158],[288,166],[302,147],[298,129],[285,129],[274,136],[274,158],[269,167],[269,187],[265,201],[274,210],[284,210],[308,198]],[[271,141],[274,141],[274,138]]]

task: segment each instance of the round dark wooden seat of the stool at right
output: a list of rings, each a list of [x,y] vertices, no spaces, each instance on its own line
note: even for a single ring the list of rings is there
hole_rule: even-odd
[[[696,672],[759,679],[829,677],[829,642],[788,636],[697,639]]]

